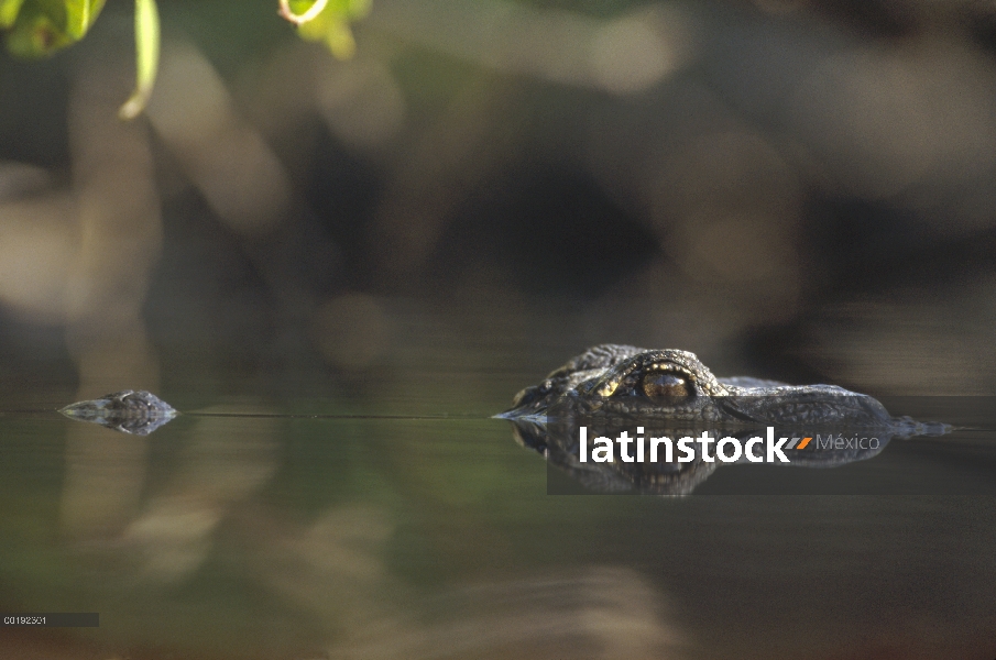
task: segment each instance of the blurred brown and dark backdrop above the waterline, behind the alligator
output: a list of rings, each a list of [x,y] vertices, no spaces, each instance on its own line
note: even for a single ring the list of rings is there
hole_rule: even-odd
[[[340,62],[270,0],[164,1],[132,123],[121,4],[0,59],[9,393],[404,393],[604,341],[996,386],[992,2],[379,0]]]

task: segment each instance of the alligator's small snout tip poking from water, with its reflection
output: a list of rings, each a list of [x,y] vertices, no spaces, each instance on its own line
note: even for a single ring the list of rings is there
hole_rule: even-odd
[[[59,413],[133,436],[147,436],[177,415],[173,406],[143,389],[106,394],[98,399],[66,406]]]

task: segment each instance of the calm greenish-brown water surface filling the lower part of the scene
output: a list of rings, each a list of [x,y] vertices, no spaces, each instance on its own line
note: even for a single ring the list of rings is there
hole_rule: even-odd
[[[4,413],[0,608],[100,614],[2,628],[10,657],[996,654],[992,494],[556,496],[475,405],[361,408],[242,400],[146,438]],[[893,455],[992,484],[977,438],[897,442],[869,479]]]

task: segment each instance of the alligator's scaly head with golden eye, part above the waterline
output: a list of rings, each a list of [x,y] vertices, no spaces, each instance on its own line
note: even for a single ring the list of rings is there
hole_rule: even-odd
[[[680,395],[649,396],[661,378]],[[649,383],[649,385],[648,385]],[[548,416],[641,419],[713,427],[792,425],[887,429],[896,437],[940,435],[941,424],[891,417],[876,399],[835,385],[787,385],[757,378],[716,378],[694,354],[602,344],[588,349],[519,392],[506,419]]]

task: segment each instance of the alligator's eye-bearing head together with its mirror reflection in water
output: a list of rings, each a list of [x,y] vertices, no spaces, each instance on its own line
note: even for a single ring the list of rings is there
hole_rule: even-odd
[[[513,422],[518,442],[590,490],[635,487],[661,495],[691,493],[723,461],[710,457],[704,443],[687,462],[582,461],[580,427],[589,438],[615,439],[622,431],[633,438],[641,425],[645,428],[637,432],[648,442],[652,437],[677,442],[705,432],[713,440],[733,438],[743,447],[751,438],[766,439],[774,426],[779,438],[817,438],[793,449],[782,443],[787,462],[781,464],[803,468],[866,460],[893,438],[951,430],[944,424],[891,417],[878,400],[842,387],[716,378],[692,353],[614,344],[591,348],[568,361],[539,385],[519,392],[513,408],[499,417]],[[738,452],[731,462],[757,461]]]

